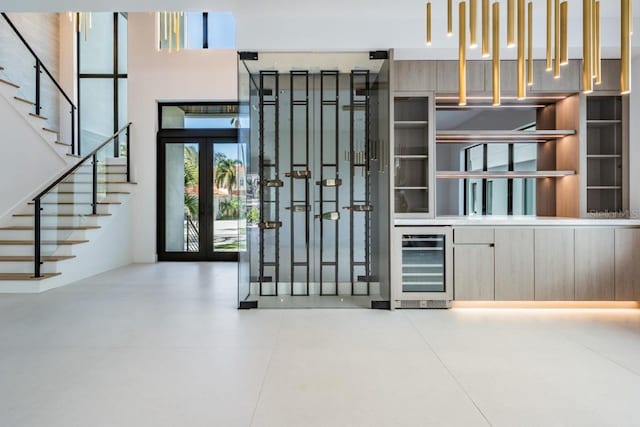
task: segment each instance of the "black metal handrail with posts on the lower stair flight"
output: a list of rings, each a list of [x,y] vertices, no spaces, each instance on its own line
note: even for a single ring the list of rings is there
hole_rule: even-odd
[[[34,215],[33,215],[33,221],[34,221],[34,225],[33,225],[33,231],[34,231],[34,266],[33,266],[33,272],[34,272],[34,277],[41,277],[40,274],[40,266],[42,265],[42,256],[41,256],[41,243],[42,243],[42,236],[41,236],[41,202],[42,202],[42,198],[44,196],[46,196],[51,190],[53,190],[58,184],[60,184],[62,181],[65,180],[65,178],[69,177],[72,173],[74,173],[76,170],[78,170],[78,168],[80,166],[82,166],[87,160],[92,159],[92,191],[91,191],[91,211],[92,214],[95,215],[97,213],[97,208],[98,208],[98,158],[97,158],[97,154],[100,150],[102,150],[107,144],[109,144],[112,141],[115,141],[116,138],[118,138],[120,136],[121,133],[126,131],[126,140],[125,140],[125,146],[127,149],[127,163],[126,163],[126,169],[127,169],[127,182],[131,182],[131,147],[130,147],[130,143],[131,143],[131,132],[130,132],[130,128],[131,128],[131,122],[127,123],[126,126],[123,126],[120,130],[118,130],[116,133],[114,133],[113,135],[111,135],[109,138],[107,138],[103,143],[101,143],[98,147],[96,147],[91,153],[87,154],[86,156],[84,156],[82,158],[82,160],[80,160],[78,163],[76,163],[75,165],[73,165],[71,168],[69,168],[69,170],[67,170],[65,173],[63,173],[62,175],[60,175],[55,181],[53,181],[53,183],[49,184],[44,190],[42,190],[40,193],[38,193],[37,196],[35,196],[33,198],[33,203],[34,203]]]

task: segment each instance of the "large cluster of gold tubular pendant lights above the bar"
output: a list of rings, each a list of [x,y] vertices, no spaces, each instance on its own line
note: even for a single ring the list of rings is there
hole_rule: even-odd
[[[482,57],[493,57],[493,105],[500,105],[500,1],[490,5],[481,0]],[[623,94],[630,93],[630,37],[633,34],[631,0],[621,4],[621,60],[620,87]],[[491,7],[490,7],[491,6]],[[526,7],[525,7],[526,6]],[[554,78],[561,76],[560,67],[569,63],[568,0],[546,1],[546,70]],[[447,36],[453,35],[453,4],[447,0]],[[459,104],[466,105],[467,47],[478,46],[478,2],[462,0],[458,3],[458,90]],[[432,43],[431,1],[426,2],[426,40]],[[467,19],[468,25],[467,25]],[[492,27],[493,42],[490,40]],[[467,36],[467,32],[469,35]],[[467,40],[468,37],[468,40]],[[468,42],[468,45],[467,45]],[[526,98],[527,86],[533,85],[533,0],[507,0],[507,47],[517,48],[517,98]],[[590,93],[594,84],[602,80],[600,1],[583,0],[583,91]]]

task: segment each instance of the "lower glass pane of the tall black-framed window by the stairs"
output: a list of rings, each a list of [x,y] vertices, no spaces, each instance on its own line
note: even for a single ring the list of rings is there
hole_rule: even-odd
[[[80,105],[82,152],[89,153],[113,135],[113,79],[81,79]]]

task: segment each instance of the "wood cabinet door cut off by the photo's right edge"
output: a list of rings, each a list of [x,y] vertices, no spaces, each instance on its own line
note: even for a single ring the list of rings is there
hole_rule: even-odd
[[[615,248],[615,298],[640,301],[640,229],[617,229]]]

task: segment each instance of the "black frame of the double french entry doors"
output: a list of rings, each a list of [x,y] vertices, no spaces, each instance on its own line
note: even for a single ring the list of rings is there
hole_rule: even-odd
[[[187,103],[193,105],[191,103]],[[208,103],[211,104],[211,103]],[[158,109],[161,113],[162,106]],[[175,104],[172,104],[175,105]],[[183,104],[186,105],[186,104]],[[160,117],[161,120],[161,117]],[[160,122],[161,123],[161,122]],[[213,144],[237,142],[236,129],[161,129],[157,136],[157,247],[158,261],[237,261],[237,252],[216,252],[213,250]],[[167,144],[201,144],[199,155],[199,250],[198,252],[167,252],[166,248],[166,153]]]

